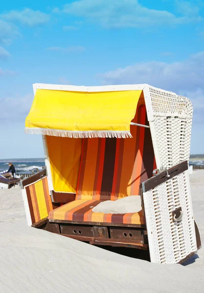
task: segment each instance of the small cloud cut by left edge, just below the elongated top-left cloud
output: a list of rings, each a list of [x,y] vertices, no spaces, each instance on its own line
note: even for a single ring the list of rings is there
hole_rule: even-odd
[[[0,19],[0,43],[8,45],[18,36],[20,32],[16,25]]]

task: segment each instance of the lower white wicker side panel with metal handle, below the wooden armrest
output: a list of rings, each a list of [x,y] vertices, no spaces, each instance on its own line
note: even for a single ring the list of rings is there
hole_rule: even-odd
[[[197,251],[188,171],[143,193],[149,250],[152,262],[178,263]],[[172,211],[182,208],[174,222]]]

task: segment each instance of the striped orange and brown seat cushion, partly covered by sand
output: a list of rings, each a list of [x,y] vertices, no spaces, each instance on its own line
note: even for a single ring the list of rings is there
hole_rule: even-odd
[[[48,219],[137,225],[144,224],[142,210],[136,213],[126,214],[104,214],[102,212],[93,212],[93,207],[97,206],[100,202],[102,201],[83,199],[75,200],[50,211]]]

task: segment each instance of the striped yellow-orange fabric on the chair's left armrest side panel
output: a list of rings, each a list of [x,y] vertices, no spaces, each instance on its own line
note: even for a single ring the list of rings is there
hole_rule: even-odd
[[[47,177],[25,187],[32,224],[48,216],[53,209]]]

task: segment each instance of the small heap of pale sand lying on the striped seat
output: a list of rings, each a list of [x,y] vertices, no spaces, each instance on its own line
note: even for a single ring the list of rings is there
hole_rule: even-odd
[[[131,195],[115,201],[106,200],[92,209],[94,212],[108,213],[129,213],[142,210],[141,197]]]

